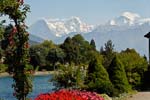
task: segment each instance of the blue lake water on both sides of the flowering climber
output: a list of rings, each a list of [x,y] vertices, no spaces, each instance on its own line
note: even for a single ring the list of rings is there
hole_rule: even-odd
[[[52,75],[34,76],[33,91],[28,97],[35,98],[40,93],[51,92],[54,89],[53,83],[49,82]],[[13,96],[13,79],[11,77],[0,77],[0,98],[4,100],[16,100]]]

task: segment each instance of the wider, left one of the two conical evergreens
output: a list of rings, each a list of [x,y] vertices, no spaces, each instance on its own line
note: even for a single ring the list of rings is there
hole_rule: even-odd
[[[112,84],[102,63],[95,57],[88,66],[88,75],[86,79],[87,89],[98,93],[112,94]]]

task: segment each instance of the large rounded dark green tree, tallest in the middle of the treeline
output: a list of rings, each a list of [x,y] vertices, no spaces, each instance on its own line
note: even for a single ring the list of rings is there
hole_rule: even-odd
[[[74,37],[66,38],[64,43],[60,46],[66,54],[65,62],[75,64],[89,63],[89,52],[92,50],[90,44],[84,38],[77,34]]]

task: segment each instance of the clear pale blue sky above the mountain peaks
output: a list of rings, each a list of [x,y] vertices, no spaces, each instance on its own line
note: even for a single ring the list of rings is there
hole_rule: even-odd
[[[125,11],[150,17],[150,0],[25,0],[31,6],[27,24],[40,18],[78,16],[89,24],[103,24]]]

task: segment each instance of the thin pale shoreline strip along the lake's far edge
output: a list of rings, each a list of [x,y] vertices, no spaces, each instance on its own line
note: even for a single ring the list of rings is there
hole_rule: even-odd
[[[33,75],[34,76],[40,76],[40,75],[49,75],[49,74],[54,74],[54,71],[36,71]],[[11,76],[11,75],[7,72],[0,73],[0,78],[1,77],[8,77],[8,76]]]

